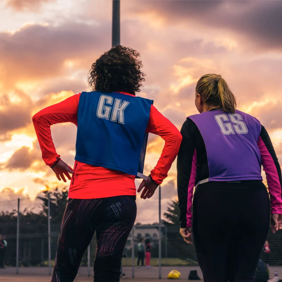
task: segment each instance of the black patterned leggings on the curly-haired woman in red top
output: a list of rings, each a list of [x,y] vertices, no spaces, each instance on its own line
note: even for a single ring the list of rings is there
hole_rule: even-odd
[[[96,231],[95,282],[118,282],[121,259],[136,218],[134,196],[69,199],[51,282],[72,282]]]

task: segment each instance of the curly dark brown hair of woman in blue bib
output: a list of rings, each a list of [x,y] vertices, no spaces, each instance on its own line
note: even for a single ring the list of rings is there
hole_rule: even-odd
[[[100,56],[92,64],[88,83],[93,91],[104,93],[127,92],[135,95],[140,91],[145,74],[140,70],[140,54],[133,49],[118,45]]]

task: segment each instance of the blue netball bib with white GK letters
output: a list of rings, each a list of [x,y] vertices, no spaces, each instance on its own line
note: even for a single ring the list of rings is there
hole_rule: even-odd
[[[152,103],[118,92],[82,92],[75,159],[137,175]]]

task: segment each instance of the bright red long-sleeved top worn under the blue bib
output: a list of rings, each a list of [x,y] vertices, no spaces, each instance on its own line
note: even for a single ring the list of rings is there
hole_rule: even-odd
[[[128,94],[128,93],[124,93]],[[128,94],[130,95],[130,94]],[[36,113],[32,120],[42,151],[42,158],[50,167],[60,157],[57,154],[50,126],[55,123],[71,122],[77,126],[77,111],[80,94],[47,107]],[[165,140],[160,159],[151,171],[152,179],[161,184],[176,158],[182,136],[178,129],[153,105],[151,106],[147,133],[154,133]],[[74,174],[70,181],[69,198],[95,199],[122,195],[136,195],[135,176],[104,167],[75,161]]]

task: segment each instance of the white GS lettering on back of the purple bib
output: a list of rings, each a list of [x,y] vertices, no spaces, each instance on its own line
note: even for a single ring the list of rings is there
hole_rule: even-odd
[[[248,128],[242,121],[242,116],[238,113],[230,113],[228,116],[226,114],[221,114],[215,116],[214,118],[216,119],[222,133],[225,135],[235,134],[235,132],[239,134],[248,133]]]

